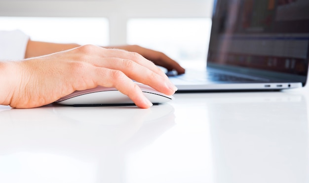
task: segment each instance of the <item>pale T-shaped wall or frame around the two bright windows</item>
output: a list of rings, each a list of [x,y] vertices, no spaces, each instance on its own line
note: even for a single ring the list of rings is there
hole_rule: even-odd
[[[211,17],[213,0],[0,0],[0,16],[106,17],[110,44],[125,44],[130,18]]]

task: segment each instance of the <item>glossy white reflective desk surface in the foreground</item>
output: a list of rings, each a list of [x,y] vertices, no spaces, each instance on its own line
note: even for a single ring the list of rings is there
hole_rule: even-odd
[[[309,183],[307,90],[0,106],[0,183]]]

